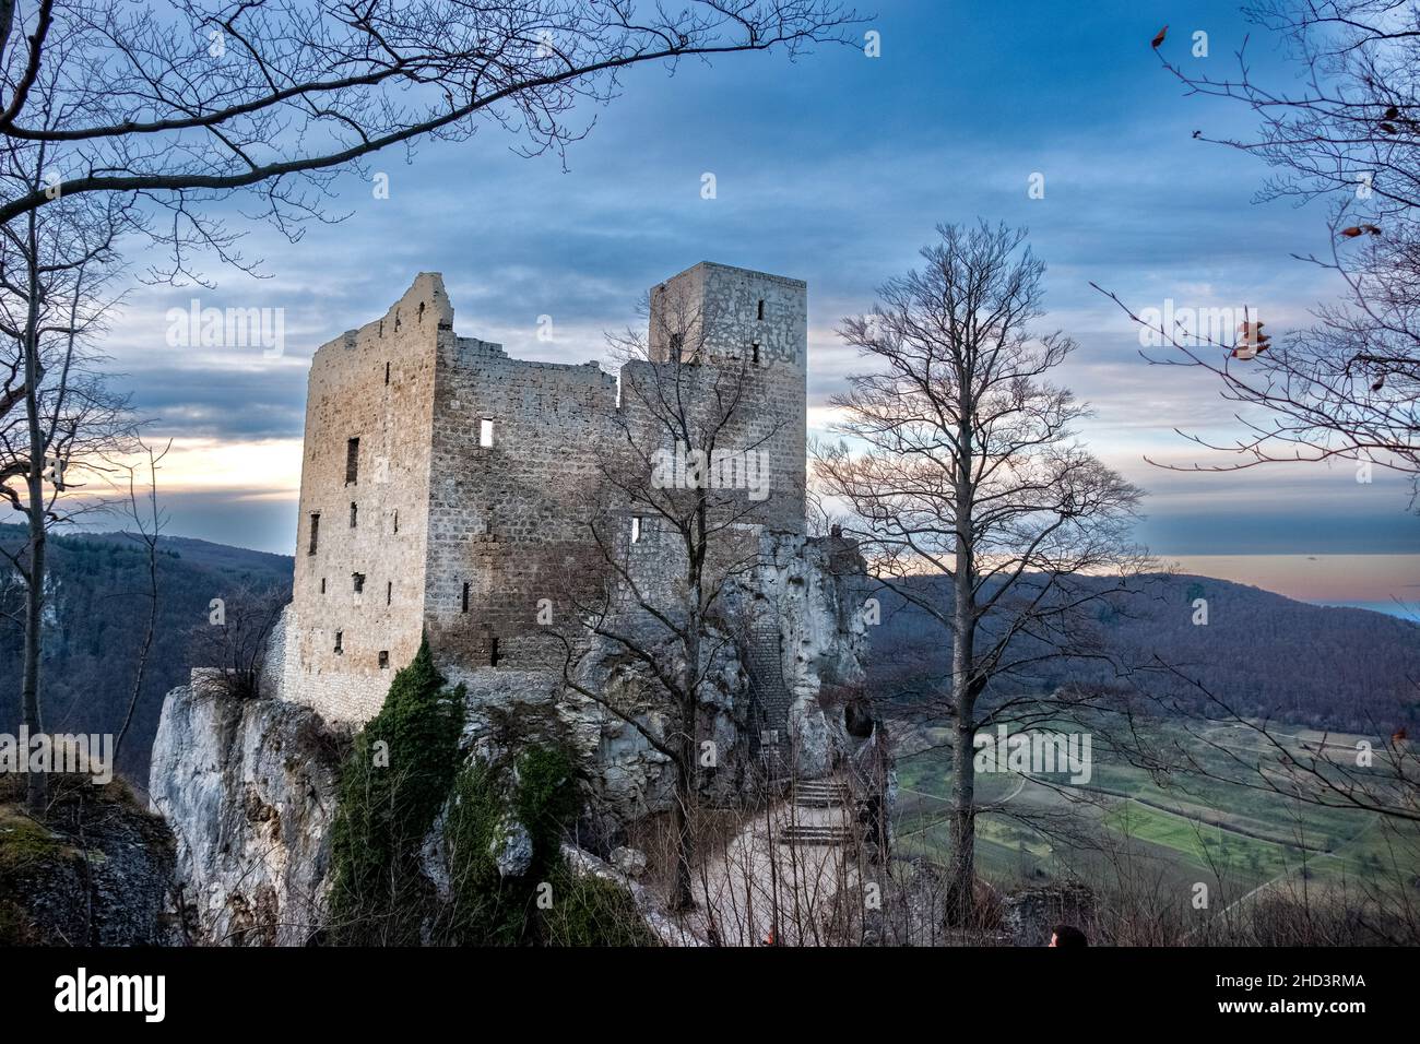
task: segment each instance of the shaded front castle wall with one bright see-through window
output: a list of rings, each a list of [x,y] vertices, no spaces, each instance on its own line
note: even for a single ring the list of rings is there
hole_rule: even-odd
[[[471,338],[440,347],[425,580],[440,659],[530,668],[557,653],[538,602],[569,612],[567,584],[586,572],[578,562],[615,409],[616,378],[595,362],[511,359]]]

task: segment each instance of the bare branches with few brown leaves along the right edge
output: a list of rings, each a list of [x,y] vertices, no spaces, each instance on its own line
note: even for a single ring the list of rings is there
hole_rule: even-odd
[[[1223,456],[1186,470],[1346,457],[1420,476],[1420,4],[1258,0],[1245,14],[1287,47],[1298,75],[1261,82],[1245,44],[1235,78],[1200,77],[1167,47],[1160,60],[1191,94],[1257,116],[1254,135],[1194,138],[1268,163],[1261,200],[1328,203],[1331,250],[1304,260],[1336,273],[1342,295],[1318,305],[1311,328],[1261,348],[1257,331],[1197,337],[1130,311],[1170,349],[1150,361],[1210,371],[1238,405],[1234,439],[1187,436]]]

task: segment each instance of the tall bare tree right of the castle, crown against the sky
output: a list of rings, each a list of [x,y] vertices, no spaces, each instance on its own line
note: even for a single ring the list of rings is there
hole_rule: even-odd
[[[848,436],[816,455],[876,578],[941,628],[950,666],[917,713],[951,729],[949,918],[968,923],[983,727],[1051,720],[1089,696],[1005,690],[1062,656],[1103,655],[1092,612],[1146,562],[1129,541],[1140,491],[1083,446],[1085,408],[1048,382],[1075,348],[1034,335],[1044,264],[1024,230],[939,226],[924,267],[888,280],[839,334],[873,369],[834,398]],[[1096,574],[1076,582],[1081,574]]]

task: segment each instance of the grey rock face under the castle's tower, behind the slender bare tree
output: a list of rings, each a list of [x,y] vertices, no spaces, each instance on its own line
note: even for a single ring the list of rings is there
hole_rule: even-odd
[[[757,645],[770,646],[792,773],[816,778],[852,757],[861,740],[849,736],[845,712],[865,676],[865,587],[852,541],[791,533],[761,538],[760,565],[723,592],[730,624],[704,642],[699,741],[714,744],[714,764],[701,761],[706,801],[734,804],[757,768],[765,724],[757,706],[763,690],[751,679]],[[619,642],[591,641],[575,676],[622,713],[548,672],[440,668],[467,687],[464,740],[477,756],[494,760],[510,746],[552,741],[579,757],[588,790],[582,839],[602,854],[619,844],[626,824],[672,807],[673,766],[642,732],[669,736],[672,710],[652,670]],[[763,685],[763,662],[760,670]]]

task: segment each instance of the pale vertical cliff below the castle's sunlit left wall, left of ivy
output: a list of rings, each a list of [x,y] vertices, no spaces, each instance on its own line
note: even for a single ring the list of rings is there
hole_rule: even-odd
[[[175,903],[192,942],[301,945],[318,923],[341,732],[219,686],[163,703],[149,791],[176,835]]]

